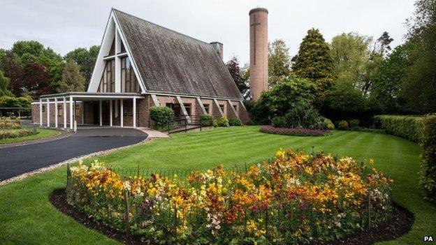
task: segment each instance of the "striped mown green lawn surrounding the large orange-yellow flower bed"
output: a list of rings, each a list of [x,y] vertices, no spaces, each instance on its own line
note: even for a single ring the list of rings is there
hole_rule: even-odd
[[[383,244],[421,244],[423,235],[436,235],[436,206],[421,198],[418,144],[391,135],[337,131],[316,138],[260,133],[257,126],[218,128],[178,133],[171,139],[116,151],[99,157],[117,168],[191,170],[254,163],[273,156],[279,148],[324,150],[363,160],[374,158],[376,168],[395,180],[394,199],[416,216],[412,231]],[[89,160],[89,161],[92,161]],[[89,162],[87,161],[87,162]],[[0,186],[0,241],[2,244],[119,244],[64,216],[48,202],[54,188],[65,186],[66,168],[45,172]]]

